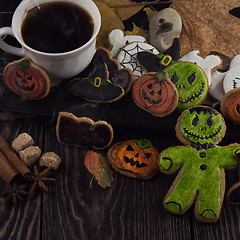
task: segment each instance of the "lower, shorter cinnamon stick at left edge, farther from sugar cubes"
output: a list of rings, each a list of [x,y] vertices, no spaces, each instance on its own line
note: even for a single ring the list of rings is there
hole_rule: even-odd
[[[8,161],[6,156],[0,151],[0,177],[7,183],[11,184],[18,171]]]

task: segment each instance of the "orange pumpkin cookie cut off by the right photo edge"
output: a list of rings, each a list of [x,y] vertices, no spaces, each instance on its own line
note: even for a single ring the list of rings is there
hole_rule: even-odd
[[[233,89],[223,96],[221,112],[234,124],[240,124],[240,88]]]

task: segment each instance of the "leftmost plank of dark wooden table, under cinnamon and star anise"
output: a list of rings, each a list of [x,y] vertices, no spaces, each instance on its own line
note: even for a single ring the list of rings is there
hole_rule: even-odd
[[[11,144],[20,133],[28,132],[40,148],[43,141],[41,122],[32,119],[18,119],[0,122],[0,134]],[[0,179],[1,180],[1,179]],[[1,180],[0,192],[6,184]],[[41,194],[28,198],[17,208],[5,205],[0,198],[0,239],[40,239]]]

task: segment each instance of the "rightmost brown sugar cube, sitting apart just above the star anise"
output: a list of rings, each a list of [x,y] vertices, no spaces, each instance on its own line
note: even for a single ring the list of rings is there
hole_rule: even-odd
[[[61,163],[61,158],[54,152],[43,153],[39,160],[39,165],[57,170]]]

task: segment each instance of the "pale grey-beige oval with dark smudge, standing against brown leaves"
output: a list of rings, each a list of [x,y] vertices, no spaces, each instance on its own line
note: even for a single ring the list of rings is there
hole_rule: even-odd
[[[182,31],[182,20],[173,8],[165,8],[156,13],[149,23],[150,44],[160,52],[166,51],[179,38]]]

